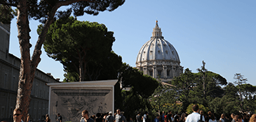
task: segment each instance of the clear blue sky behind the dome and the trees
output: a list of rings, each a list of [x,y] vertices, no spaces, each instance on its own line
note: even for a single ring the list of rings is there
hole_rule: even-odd
[[[63,9],[63,8],[61,8]],[[241,73],[256,86],[256,1],[255,0],[126,0],[116,10],[97,16],[83,15],[80,21],[105,24],[116,38],[112,49],[123,62],[135,67],[137,54],[148,40],[156,20],[162,35],[180,56],[180,65],[193,73],[201,68],[222,75],[234,83]],[[40,23],[30,20],[31,55]],[[16,19],[11,23],[9,52],[20,57]],[[38,68],[64,79],[63,66],[49,58],[42,48]]]

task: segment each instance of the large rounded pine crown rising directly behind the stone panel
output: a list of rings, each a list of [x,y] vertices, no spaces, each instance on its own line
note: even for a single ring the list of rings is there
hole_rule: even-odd
[[[41,27],[42,25],[38,29],[39,34]],[[109,68],[121,66],[121,57],[111,52],[115,40],[113,34],[112,31],[107,31],[104,24],[80,22],[69,17],[57,20],[50,26],[43,48],[48,56],[62,63],[65,71],[72,73],[72,76],[79,74],[79,81],[97,80],[102,68],[108,66],[107,63],[111,63]],[[104,71],[106,75],[106,70]]]

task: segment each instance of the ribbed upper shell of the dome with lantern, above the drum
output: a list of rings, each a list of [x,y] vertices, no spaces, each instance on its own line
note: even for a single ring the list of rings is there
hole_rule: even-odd
[[[137,54],[136,63],[151,60],[180,63],[180,58],[176,49],[167,40],[163,39],[161,29],[157,22],[151,39],[140,48],[140,52]]]

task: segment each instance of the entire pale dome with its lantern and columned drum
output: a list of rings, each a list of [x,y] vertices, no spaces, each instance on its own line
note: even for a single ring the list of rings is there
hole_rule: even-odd
[[[136,68],[142,70],[144,75],[160,77],[163,81],[171,80],[183,72],[176,49],[163,39],[157,21],[151,39],[140,48],[137,54]]]

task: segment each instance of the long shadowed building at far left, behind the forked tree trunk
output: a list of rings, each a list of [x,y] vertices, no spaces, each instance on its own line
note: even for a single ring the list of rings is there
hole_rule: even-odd
[[[9,39],[10,25],[0,22],[0,121],[13,121],[20,74],[20,59],[9,54]],[[49,86],[46,83],[57,82],[50,73],[36,69],[29,106],[32,121],[41,121],[48,113]]]

